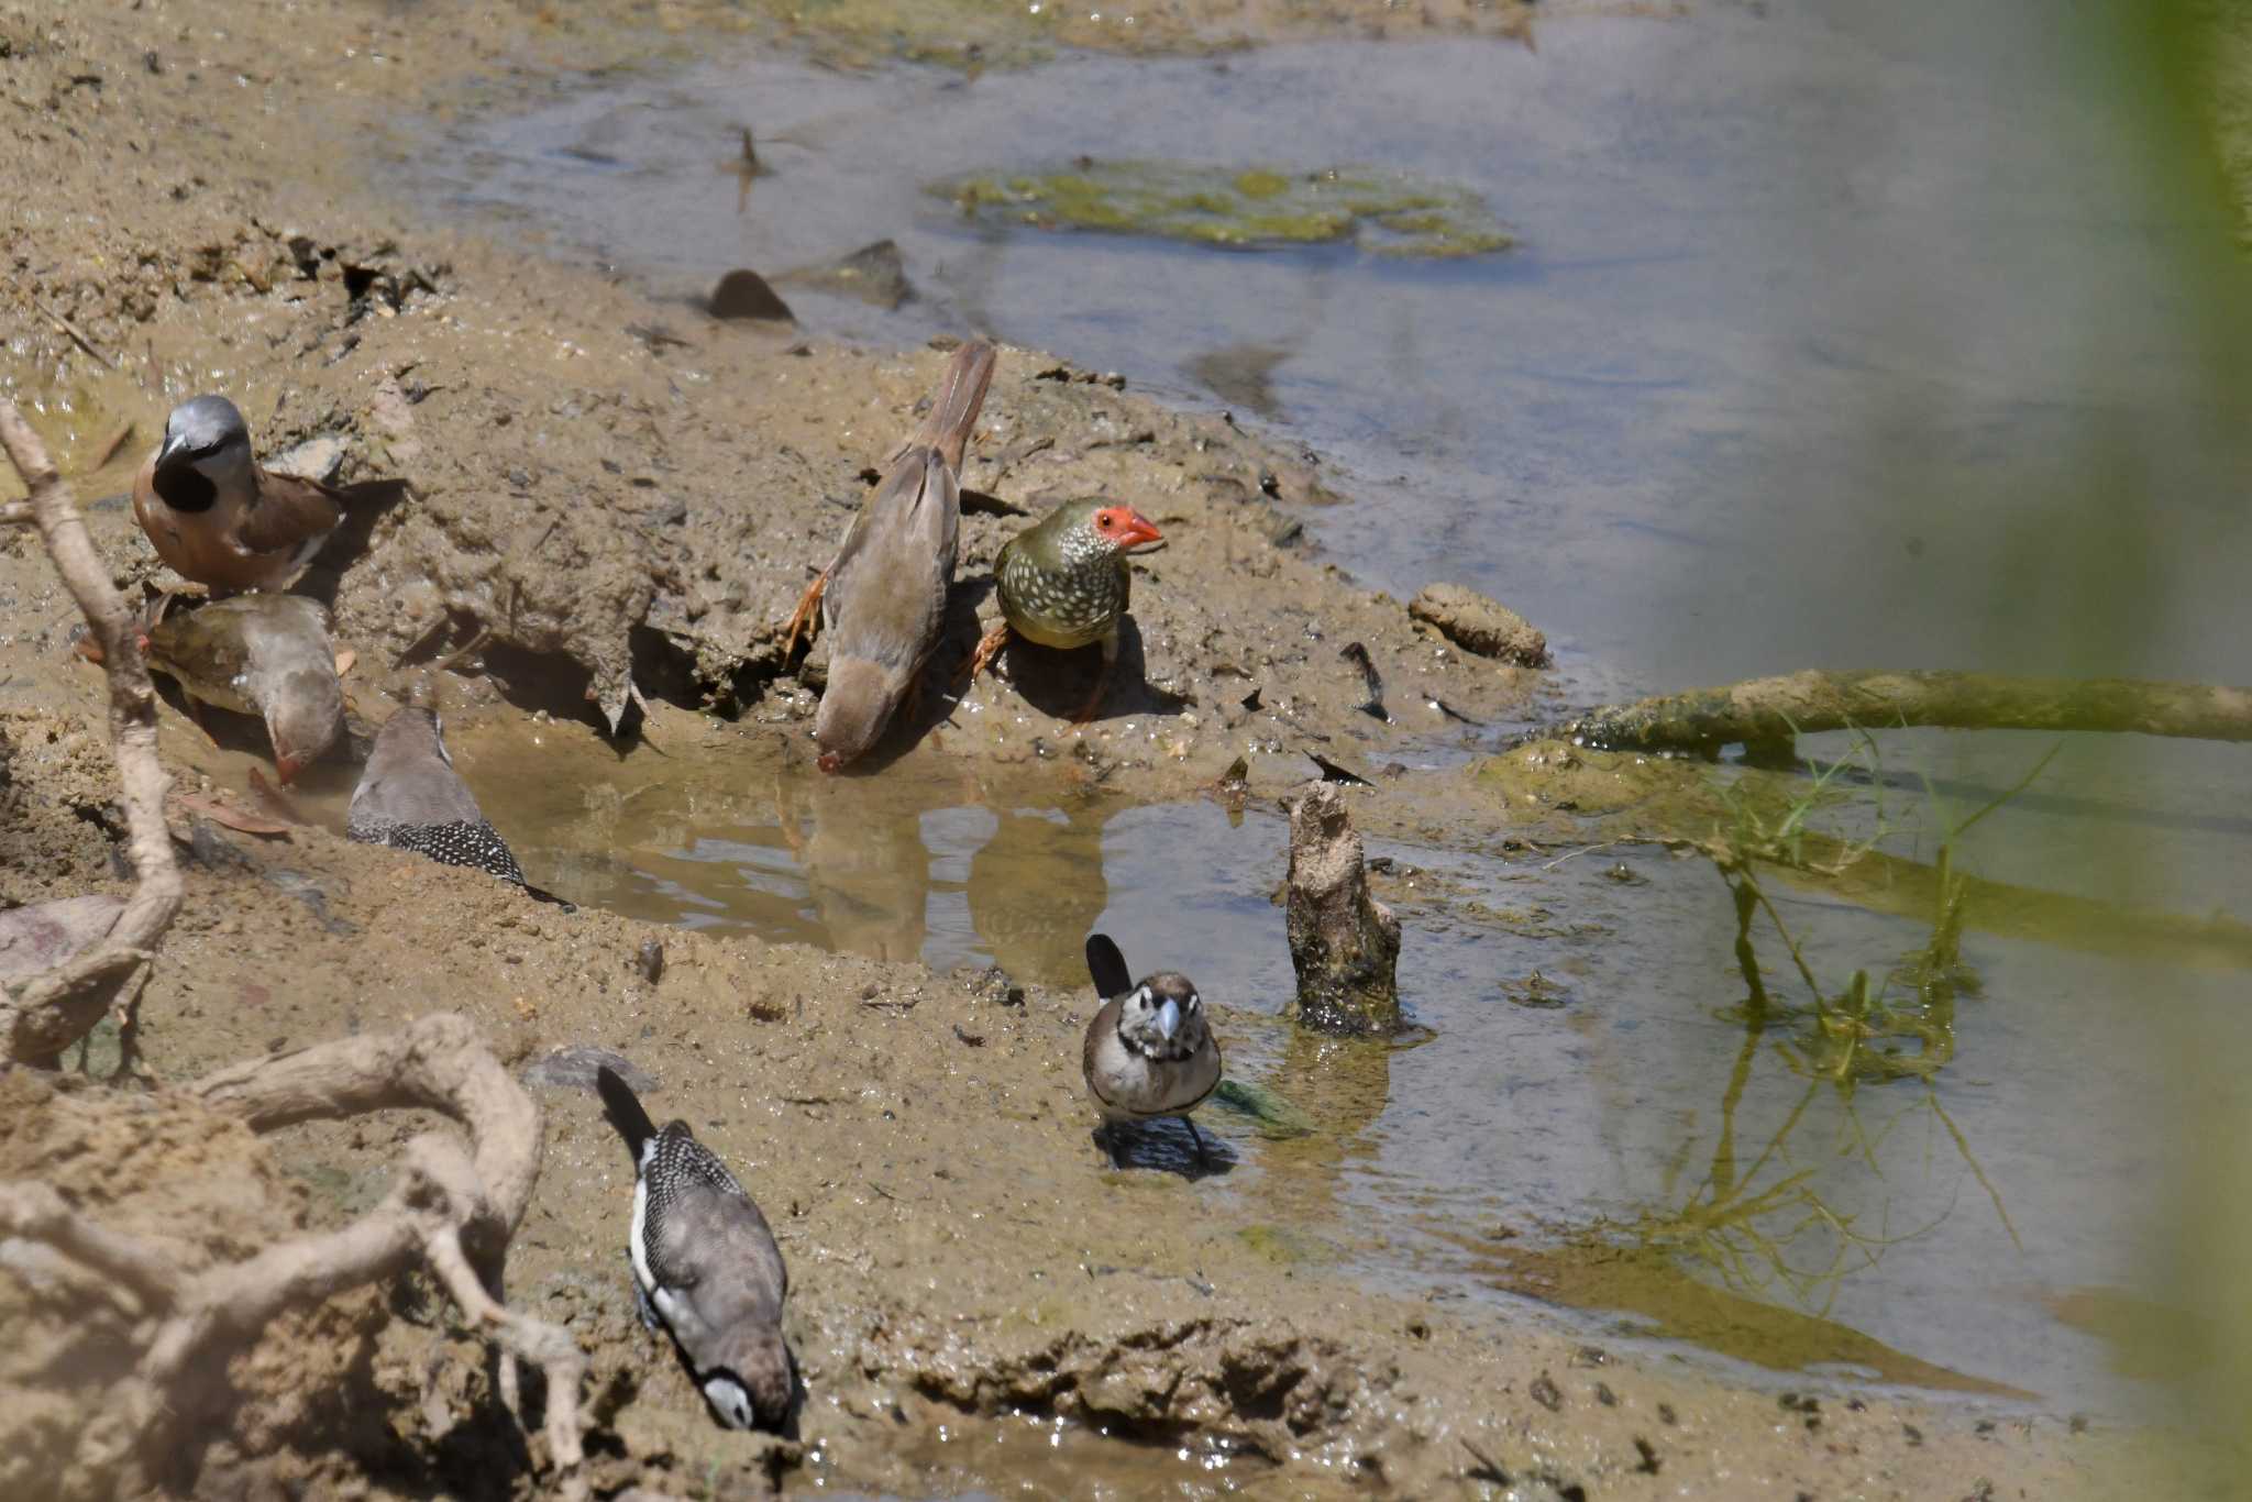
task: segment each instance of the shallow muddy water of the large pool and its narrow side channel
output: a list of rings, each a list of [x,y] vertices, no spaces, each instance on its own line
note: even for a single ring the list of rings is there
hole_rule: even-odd
[[[2139,185],[2133,122],[2085,68],[2065,83],[2081,61],[2061,45],[2025,5],[1896,32],[1844,7],[1567,18],[1538,54],[1340,43],[975,81],[743,54],[471,101],[486,108],[408,176],[664,293],[894,236],[919,299],[786,288],[811,331],[896,345],[968,324],[1302,435],[1360,498],[1313,518],[1356,576],[1500,594],[1588,700],[1811,664],[2225,682],[2252,624],[2238,457],[2173,259],[2209,225]],[[772,167],[748,194],[721,169],[741,124]],[[1216,142],[1227,162],[1473,187],[1522,245],[1227,254],[968,225],[921,191],[1081,151],[1209,162]],[[1892,736],[1883,779],[1833,820],[1871,829],[1883,788],[1887,849],[1930,860],[1946,808],[1968,815],[2049,745]],[[1272,813],[1020,806],[921,759],[752,781],[631,759],[597,793],[480,793],[536,878],[660,921],[1058,984],[1099,923],[1131,959],[1182,964],[1227,1000],[1232,1070],[1320,1121],[1266,1142],[1214,1117],[1239,1155],[1214,1193],[1277,1257],[1579,1304],[1610,1335],[1784,1371],[2054,1407],[2144,1392],[2090,1331],[2166,1293],[2151,1013],[2243,1047],[2234,973],[1973,919],[1982,993],[1959,1002],[1952,1063],[1934,1088],[1849,1097],[1748,1034],[1707,862],[1378,842],[1437,876],[1383,883],[1437,1038],[1315,1074],[1263,1022],[1290,984]],[[2074,741],[1957,858],[2209,912],[2241,901],[2252,826],[2214,811],[2247,781],[2236,748]],[[1621,858],[1639,880],[1610,874]],[[1928,937],[1777,896],[1829,989]],[[1761,959],[1781,993],[1772,932]],[[1534,971],[1561,1004],[1509,1000]]]

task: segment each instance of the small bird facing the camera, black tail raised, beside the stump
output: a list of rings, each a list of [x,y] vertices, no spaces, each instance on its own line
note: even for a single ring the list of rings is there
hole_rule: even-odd
[[[1088,935],[1088,973],[1103,1007],[1088,1022],[1079,1067],[1103,1117],[1097,1135],[1110,1166],[1119,1166],[1112,1124],[1153,1117],[1180,1117],[1196,1160],[1209,1162],[1189,1112],[1221,1083],[1221,1043],[1205,1027],[1205,1000],[1196,984],[1176,971],[1135,982],[1108,935]]]

